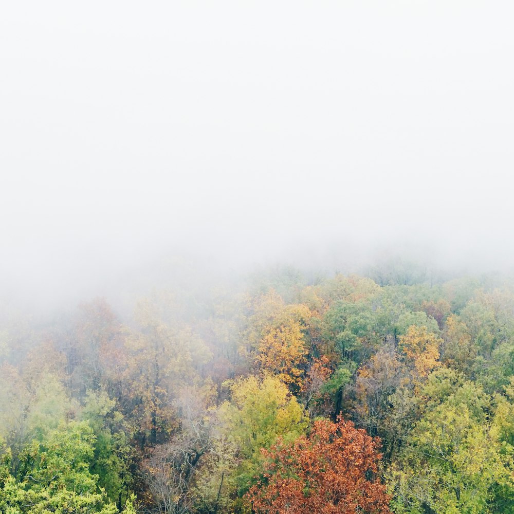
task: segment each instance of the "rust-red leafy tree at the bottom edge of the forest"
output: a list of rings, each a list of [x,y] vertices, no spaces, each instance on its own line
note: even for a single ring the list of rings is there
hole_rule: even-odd
[[[379,447],[351,421],[316,421],[309,437],[261,450],[264,473],[246,498],[260,514],[390,514]]]

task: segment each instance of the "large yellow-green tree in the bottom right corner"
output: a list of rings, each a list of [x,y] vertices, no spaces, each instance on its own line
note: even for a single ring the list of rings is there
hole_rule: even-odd
[[[497,400],[501,410],[491,420],[494,405],[482,388],[440,368],[428,377],[420,402],[425,412],[387,472],[395,512],[511,512],[507,401]]]

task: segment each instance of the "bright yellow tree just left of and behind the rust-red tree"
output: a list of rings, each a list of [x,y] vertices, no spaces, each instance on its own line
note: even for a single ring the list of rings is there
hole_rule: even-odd
[[[197,487],[203,507],[210,512],[219,505],[238,510],[242,495],[261,470],[260,449],[269,448],[278,437],[296,439],[308,425],[302,406],[277,376],[240,378],[231,383],[231,390],[231,401],[217,410],[214,448]]]

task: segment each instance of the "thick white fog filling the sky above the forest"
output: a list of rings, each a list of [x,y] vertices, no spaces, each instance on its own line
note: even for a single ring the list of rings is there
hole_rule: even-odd
[[[6,3],[3,294],[76,302],[177,260],[509,269],[513,11]]]

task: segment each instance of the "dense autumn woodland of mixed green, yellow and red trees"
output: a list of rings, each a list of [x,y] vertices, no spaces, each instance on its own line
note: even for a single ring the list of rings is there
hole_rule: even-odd
[[[514,512],[512,282],[197,282],[4,309],[0,511]]]

